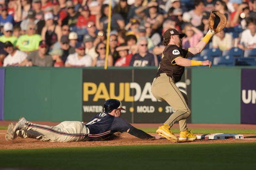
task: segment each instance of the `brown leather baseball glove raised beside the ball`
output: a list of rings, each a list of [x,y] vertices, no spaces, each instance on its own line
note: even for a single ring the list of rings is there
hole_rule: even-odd
[[[220,11],[213,10],[209,17],[209,29],[215,33],[219,33],[227,24],[226,16]]]

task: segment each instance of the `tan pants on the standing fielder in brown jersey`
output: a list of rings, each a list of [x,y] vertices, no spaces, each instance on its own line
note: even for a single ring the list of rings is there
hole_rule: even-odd
[[[172,78],[166,73],[160,74],[153,80],[151,92],[157,100],[166,101],[176,110],[164,123],[172,127],[179,121],[180,131],[187,130],[186,119],[190,116],[188,96],[179,90]]]

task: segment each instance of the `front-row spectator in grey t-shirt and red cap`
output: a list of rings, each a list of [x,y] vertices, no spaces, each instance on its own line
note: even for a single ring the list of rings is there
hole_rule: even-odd
[[[47,48],[46,41],[40,41],[38,50],[29,53],[28,57],[20,63],[20,66],[52,67],[52,56],[46,54]]]

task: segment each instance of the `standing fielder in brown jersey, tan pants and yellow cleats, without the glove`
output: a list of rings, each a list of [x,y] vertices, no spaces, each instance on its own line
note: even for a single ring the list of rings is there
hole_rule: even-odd
[[[159,63],[156,78],[153,80],[151,91],[156,99],[166,101],[176,110],[176,112],[164,122],[164,125],[159,126],[156,130],[158,135],[170,141],[178,141],[178,138],[170,129],[172,125],[178,121],[180,124],[179,140],[196,140],[196,136],[188,131],[186,123],[186,119],[190,116],[188,96],[181,92],[175,83],[180,81],[184,67],[209,65],[209,68],[211,68],[212,62],[209,60],[193,61],[187,59],[187,57],[200,53],[213,34],[213,31],[209,30],[202,41],[198,42],[195,47],[185,50],[182,49],[181,44],[181,38],[184,37],[184,33],[179,33],[176,29],[168,29],[164,32],[163,44],[166,47],[164,48],[162,59]]]

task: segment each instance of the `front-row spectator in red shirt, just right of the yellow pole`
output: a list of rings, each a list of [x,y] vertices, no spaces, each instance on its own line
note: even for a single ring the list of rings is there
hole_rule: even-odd
[[[120,44],[119,47],[127,46],[125,43]],[[120,58],[116,60],[116,67],[128,67],[132,58],[132,53],[128,54],[128,49],[119,50],[118,54]]]

